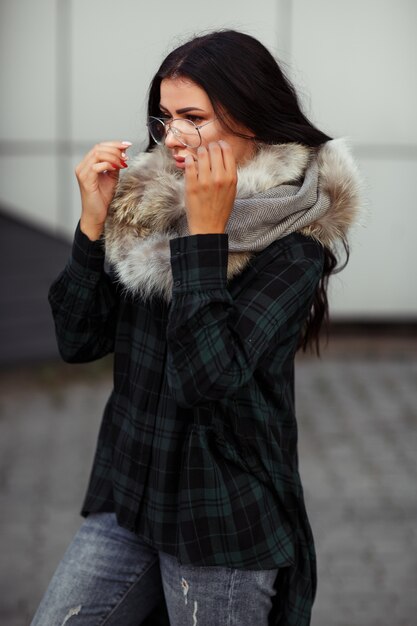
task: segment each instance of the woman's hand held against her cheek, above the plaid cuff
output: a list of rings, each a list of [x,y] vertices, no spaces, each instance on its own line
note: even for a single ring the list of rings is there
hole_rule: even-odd
[[[237,167],[226,141],[185,159],[185,206],[191,235],[224,233],[236,197]]]

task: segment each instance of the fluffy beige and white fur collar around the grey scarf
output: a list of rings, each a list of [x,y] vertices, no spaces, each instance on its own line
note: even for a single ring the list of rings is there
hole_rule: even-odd
[[[250,204],[246,206],[253,198],[272,192],[280,197],[283,193],[293,196],[294,189],[298,193],[307,173],[313,170],[317,174],[314,191],[322,199],[320,210],[310,210],[313,200],[308,195],[301,211],[307,215],[304,221],[292,218],[289,226],[284,223],[279,234],[272,231],[270,237],[298,231],[329,248],[346,239],[359,208],[360,184],[344,140],[329,141],[320,149],[295,143],[263,145],[238,171],[237,200],[228,224],[229,278],[246,267],[254,251],[271,243],[268,237],[262,239],[265,245],[257,241],[245,247],[236,242],[233,219],[239,228],[245,211],[253,214]],[[278,217],[275,219],[279,222]],[[270,232],[269,226],[266,232]],[[169,240],[186,234],[182,172],[163,147],[139,154],[120,178],[105,230],[107,260],[125,288],[143,297],[159,294],[170,299]]]

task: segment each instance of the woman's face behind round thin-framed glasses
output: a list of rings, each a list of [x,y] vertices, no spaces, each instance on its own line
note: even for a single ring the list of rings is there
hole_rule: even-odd
[[[207,124],[200,130],[201,145],[208,146],[209,143],[222,139],[227,141],[233,150],[237,164],[242,164],[250,159],[254,153],[254,142],[251,139],[244,139],[233,135],[224,129],[218,120],[207,93],[186,78],[165,78],[161,82],[160,109],[164,118],[168,121],[175,118],[188,119],[196,126]],[[250,135],[250,131],[235,124],[238,132]],[[168,132],[165,139],[166,147],[171,151],[177,167],[185,168],[184,159],[188,154],[193,157],[197,154],[197,148],[184,146],[173,132]]]

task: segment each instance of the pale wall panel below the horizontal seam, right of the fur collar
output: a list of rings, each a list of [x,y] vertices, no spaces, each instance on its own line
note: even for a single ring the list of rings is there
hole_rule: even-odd
[[[416,319],[416,164],[361,159],[369,206],[351,237],[351,258],[332,279],[337,317]]]

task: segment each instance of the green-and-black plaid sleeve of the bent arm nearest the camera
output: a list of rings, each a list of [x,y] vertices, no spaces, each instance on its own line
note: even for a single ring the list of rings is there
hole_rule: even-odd
[[[227,284],[227,235],[171,241],[167,373],[180,405],[236,394],[280,338],[298,335],[322,273],[322,254],[316,251],[316,257],[286,254],[284,247],[266,265],[251,268],[250,281],[241,277],[242,288],[233,298]]]

